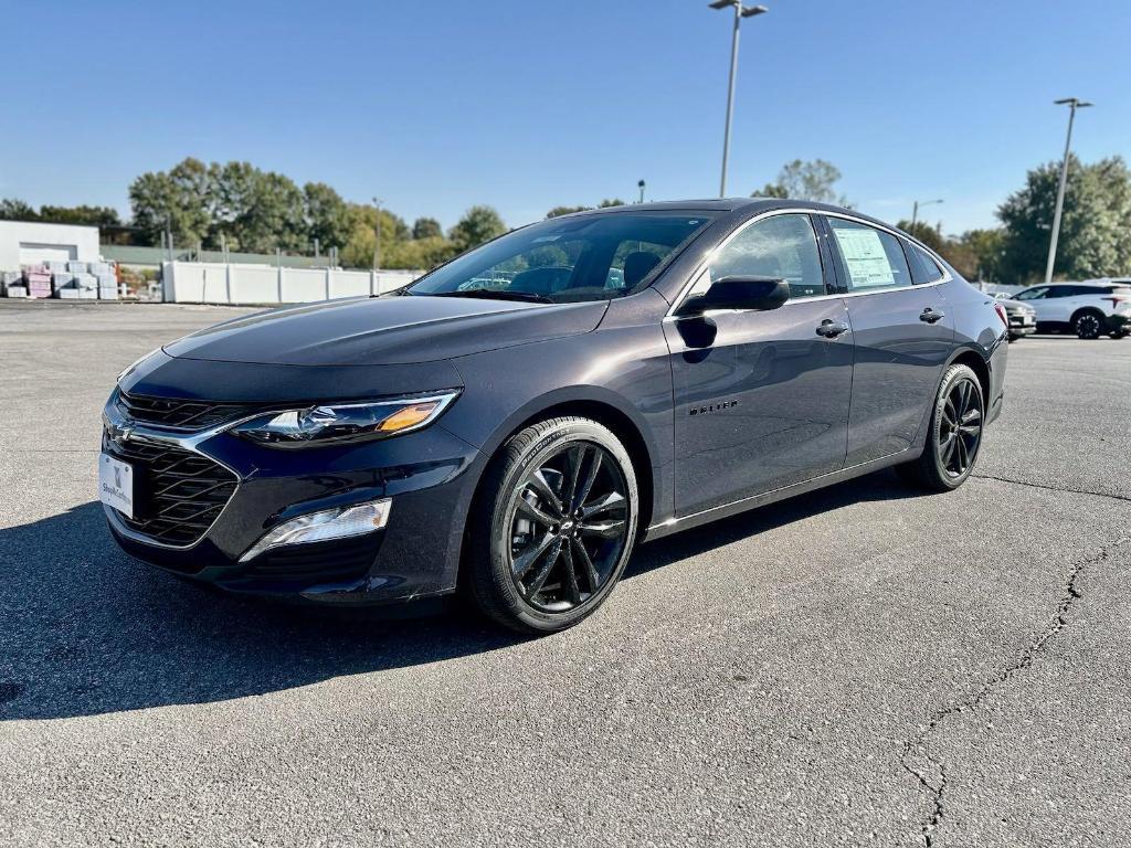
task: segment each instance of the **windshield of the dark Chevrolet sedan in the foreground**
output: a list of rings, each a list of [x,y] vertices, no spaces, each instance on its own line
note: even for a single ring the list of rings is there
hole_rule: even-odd
[[[452,260],[411,295],[566,303],[620,297],[711,219],[705,213],[607,213],[552,218]]]

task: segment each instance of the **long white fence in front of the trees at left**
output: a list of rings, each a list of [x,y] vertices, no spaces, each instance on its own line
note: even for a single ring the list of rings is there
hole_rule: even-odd
[[[382,294],[423,271],[344,271],[222,262],[164,262],[163,297],[169,303],[310,303]]]

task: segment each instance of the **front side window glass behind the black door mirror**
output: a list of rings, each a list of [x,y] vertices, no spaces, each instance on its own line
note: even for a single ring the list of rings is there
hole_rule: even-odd
[[[723,277],[770,277],[789,284],[793,300],[824,294],[817,236],[808,215],[774,215],[750,224],[719,248],[692,294]]]

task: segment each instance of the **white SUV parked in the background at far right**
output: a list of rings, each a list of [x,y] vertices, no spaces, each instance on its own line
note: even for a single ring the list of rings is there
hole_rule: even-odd
[[[1013,300],[1036,311],[1038,330],[1071,329],[1080,338],[1131,332],[1131,279],[1030,286]]]

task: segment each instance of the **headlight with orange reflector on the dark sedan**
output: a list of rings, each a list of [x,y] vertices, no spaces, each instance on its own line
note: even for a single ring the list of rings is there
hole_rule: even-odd
[[[370,439],[388,439],[431,424],[459,396],[444,391],[426,397],[371,404],[327,404],[271,413],[240,424],[236,435],[273,448],[305,448]]]

